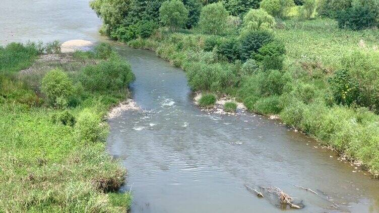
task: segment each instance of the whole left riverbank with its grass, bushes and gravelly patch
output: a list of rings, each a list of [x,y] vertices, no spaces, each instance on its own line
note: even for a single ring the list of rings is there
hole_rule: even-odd
[[[130,65],[105,44],[43,52],[0,47],[0,211],[127,211],[127,171],[106,153],[104,116],[128,98]]]

